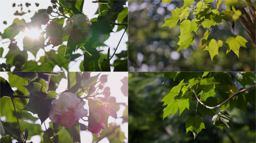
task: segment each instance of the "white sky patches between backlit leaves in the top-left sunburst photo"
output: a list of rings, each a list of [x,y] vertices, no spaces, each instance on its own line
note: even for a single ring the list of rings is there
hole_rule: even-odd
[[[28,8],[25,6],[25,3],[31,3],[31,6],[29,6]],[[35,6],[35,2],[39,3],[39,7]],[[16,0],[16,6],[12,7],[12,4],[14,2],[10,1],[10,0],[0,0],[0,32],[3,33],[4,29],[6,29],[8,26],[12,25],[12,22],[15,18],[19,18],[19,19],[25,19],[26,22],[30,22],[30,18],[34,15],[34,12],[38,9],[47,9],[48,6],[51,6],[51,2],[50,0],[40,0],[40,1],[31,1],[31,0]],[[27,12],[28,10],[31,10],[31,13],[27,13],[23,16],[14,16],[13,13],[16,12],[16,10],[20,11],[20,7],[18,7],[18,4],[23,5],[23,11]],[[128,6],[128,2],[127,5]],[[97,3],[92,3],[92,0],[85,0],[84,5],[83,5],[83,12],[85,13],[85,15],[88,16],[89,19],[92,18],[97,18],[97,15],[94,15],[94,13],[98,10],[98,4]],[[3,24],[3,21],[7,22],[7,25]],[[65,23],[64,23],[65,24]],[[45,29],[45,26],[42,26],[42,29]],[[113,31],[116,31],[117,26],[115,26],[115,28],[113,29]],[[109,45],[110,47],[110,56],[113,55],[114,53],[114,48],[118,45],[118,42],[122,36],[122,34],[124,33],[124,29],[116,32],[116,33],[110,33],[110,37],[109,39],[107,39],[104,44]],[[17,45],[18,47],[23,50],[23,43],[22,40],[24,38],[26,34],[24,34],[23,32],[20,32],[19,35],[15,38],[17,41]],[[9,41],[9,39],[1,39],[1,42],[7,42]],[[122,50],[127,50],[127,44],[126,42],[128,41],[128,35],[125,33],[124,37],[122,38],[122,41],[120,42],[120,45],[118,47],[118,50],[116,51],[116,53],[120,53]],[[46,42],[48,42],[46,40]],[[64,42],[64,44],[66,45],[66,42]],[[1,47],[4,48],[4,53],[3,53],[3,57],[7,54],[7,52],[9,51],[9,49],[7,48],[9,46],[9,43],[7,42],[6,44],[1,44]],[[52,45],[49,45],[48,47],[45,48],[46,51],[49,51],[52,49]],[[58,48],[55,47],[54,50],[57,50]],[[108,47],[104,47],[101,48],[100,50],[103,50],[102,53],[107,54],[107,49]],[[41,49],[40,51],[42,51],[42,53],[38,53],[36,57],[34,57],[33,54],[31,54],[30,52],[28,52],[28,60],[33,60],[36,59],[39,60],[39,57],[44,55],[44,51]],[[76,53],[80,53],[82,54],[82,50],[77,50]],[[113,61],[116,59],[116,57],[113,57],[113,59],[110,61],[110,64],[113,63]],[[80,71],[79,66],[81,61],[83,60],[83,58],[79,58],[79,61],[77,61],[76,63],[74,62],[70,62],[69,64],[69,71]],[[5,63],[6,59],[5,58],[0,58],[0,63]],[[14,67],[13,67],[14,69]],[[13,70],[12,69],[12,70]],[[54,71],[61,71],[60,68],[58,66],[55,66]],[[112,68],[113,71],[113,68]]]

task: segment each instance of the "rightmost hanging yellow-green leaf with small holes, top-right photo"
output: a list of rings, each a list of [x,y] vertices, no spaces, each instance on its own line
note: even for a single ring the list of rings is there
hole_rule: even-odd
[[[246,42],[248,42],[246,39],[244,39],[242,36],[240,35],[235,35],[235,37],[230,36],[225,45],[227,45],[227,53],[229,53],[229,51],[233,51],[235,54],[237,54],[238,58],[239,58],[239,48],[241,46],[246,47]],[[247,47],[246,47],[247,48]]]

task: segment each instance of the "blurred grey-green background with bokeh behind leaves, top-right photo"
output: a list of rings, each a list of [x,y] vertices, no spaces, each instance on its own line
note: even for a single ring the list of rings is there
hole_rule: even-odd
[[[248,41],[247,48],[240,47],[239,58],[233,52],[226,54],[225,42],[233,36],[228,22],[219,25],[220,40],[223,47],[219,55],[211,61],[208,51],[198,42],[208,29],[199,28],[195,43],[187,50],[179,48],[179,24],[173,28],[162,27],[166,18],[172,16],[171,10],[182,7],[183,0],[172,0],[170,4],[162,0],[129,0],[129,71],[255,71],[255,46],[239,20],[236,21],[235,35],[241,35]],[[216,9],[216,1],[211,2]],[[225,9],[221,4],[219,11]],[[188,19],[193,19],[190,16]],[[213,29],[213,26],[210,30]],[[218,39],[218,28],[215,27],[208,37]]]

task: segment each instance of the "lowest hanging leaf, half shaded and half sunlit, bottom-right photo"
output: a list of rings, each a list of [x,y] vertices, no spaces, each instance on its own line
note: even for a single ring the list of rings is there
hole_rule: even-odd
[[[195,117],[189,117],[186,120],[186,131],[187,133],[188,131],[192,131],[194,139],[203,128],[205,128],[204,122],[199,115],[196,115]]]

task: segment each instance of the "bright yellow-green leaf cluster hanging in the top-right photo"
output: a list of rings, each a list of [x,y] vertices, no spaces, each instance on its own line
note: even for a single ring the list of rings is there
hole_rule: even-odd
[[[192,4],[193,0],[184,0],[183,7],[181,9],[176,7],[176,9],[171,11],[173,16],[171,16],[171,18],[165,19],[163,26],[170,26],[170,28],[175,26],[180,19],[180,41],[177,43],[177,45],[180,45],[180,47],[177,51],[181,50],[182,48],[186,50],[189,45],[193,45],[195,40],[190,34],[192,31],[194,31],[196,34],[200,26],[203,26],[204,28],[210,28],[211,26],[215,27],[217,25],[219,28],[219,23],[222,23],[222,20],[236,20],[241,15],[239,10],[226,9],[219,12],[217,9],[219,8],[221,1],[217,2],[217,9],[211,9],[212,6],[209,6],[207,3],[212,1],[213,0],[199,1],[196,6],[194,6]],[[163,0],[162,2],[165,3],[167,1]],[[170,1],[168,1],[168,3],[170,3]],[[232,4],[230,5],[232,6]],[[193,11],[193,15],[189,15],[190,13],[187,6],[189,7],[189,10]],[[184,14],[186,11],[188,12]],[[232,16],[232,19],[229,19],[230,15]],[[192,22],[190,20],[182,21],[184,17],[188,18],[189,16],[195,16],[195,19],[193,19]],[[204,38],[201,39],[202,45],[207,42],[209,34],[210,31],[205,32]],[[226,54],[232,50],[239,57],[239,48],[241,46],[246,47],[246,42],[248,41],[240,35],[234,35],[234,37],[230,36],[225,42],[225,45],[227,46]],[[209,51],[212,61],[214,55],[219,54],[219,47],[222,47],[222,44],[223,42],[221,40],[216,41],[214,39],[211,39],[207,42],[207,46],[204,50]]]

